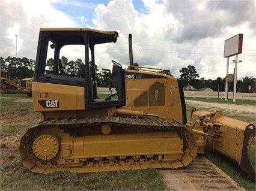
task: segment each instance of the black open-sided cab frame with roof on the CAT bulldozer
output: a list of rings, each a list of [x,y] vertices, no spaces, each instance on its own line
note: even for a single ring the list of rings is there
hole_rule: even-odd
[[[124,70],[114,62],[112,84],[117,91],[117,99],[99,99],[97,96],[96,69],[100,49],[106,43],[116,43],[118,33],[88,28],[50,29],[41,28],[38,40],[34,81],[84,87],[85,109],[121,107],[125,105]],[[74,74],[82,68],[82,74]],[[111,62],[111,60],[109,60]],[[51,71],[51,72],[49,72]]]

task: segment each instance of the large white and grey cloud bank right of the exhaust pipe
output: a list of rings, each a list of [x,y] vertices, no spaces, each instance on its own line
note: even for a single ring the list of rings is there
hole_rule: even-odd
[[[195,65],[200,77],[216,79],[225,77],[227,59],[223,57],[223,52],[227,38],[244,33],[244,41],[251,41],[247,47],[251,51],[255,50],[255,37],[251,35],[254,29],[250,28],[252,20],[245,16],[239,20],[239,14],[233,15],[231,8],[220,6],[224,5],[221,1],[143,2],[148,9],[147,14],[139,14],[133,7],[128,7],[127,10],[136,16],[130,16],[129,22],[123,19],[127,13],[119,8],[118,1],[100,5],[100,9],[95,10],[99,17],[94,20],[98,28],[103,26],[111,29],[114,21],[122,34],[120,37],[132,32],[135,43],[133,60],[142,66],[165,66],[164,69],[170,69],[172,74],[179,77],[177,68]],[[240,5],[239,2],[235,3],[233,9],[240,8]],[[242,8],[249,6],[243,5]],[[109,19],[114,12],[118,19]],[[233,22],[234,17],[237,18],[237,25]],[[131,25],[131,22],[135,23]],[[123,43],[127,43],[127,39]],[[112,54],[124,56],[117,52],[118,50],[115,53],[112,51]],[[239,56],[242,57],[242,54]],[[248,60],[245,62],[253,62],[252,56],[243,57]],[[121,57],[117,59],[123,60]],[[250,66],[245,65],[243,68],[248,67]],[[256,76],[255,67],[252,66],[252,70],[248,72],[239,71],[238,77],[242,78],[246,74]]]

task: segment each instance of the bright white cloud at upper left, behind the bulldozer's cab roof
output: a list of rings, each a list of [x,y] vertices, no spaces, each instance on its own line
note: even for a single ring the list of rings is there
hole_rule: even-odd
[[[56,1],[1,1],[1,56],[35,59],[37,38],[41,27],[72,27],[75,22],[51,6]],[[19,27],[17,27],[19,26]],[[13,30],[16,30],[13,34]],[[10,41],[11,40],[11,46]],[[6,48],[8,47],[8,48]]]

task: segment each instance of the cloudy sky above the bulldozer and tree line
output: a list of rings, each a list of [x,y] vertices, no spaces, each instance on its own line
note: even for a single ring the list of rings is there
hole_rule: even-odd
[[[255,7],[251,0],[0,0],[0,56],[35,59],[43,27],[88,27],[119,34],[102,50],[99,69],[111,69],[111,60],[127,68],[132,34],[139,66],[180,78],[181,68],[194,65],[200,78],[216,80],[227,73],[225,40],[243,34],[237,79],[256,77]]]

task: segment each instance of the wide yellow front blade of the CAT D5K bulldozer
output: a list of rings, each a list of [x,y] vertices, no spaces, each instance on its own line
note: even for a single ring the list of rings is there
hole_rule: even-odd
[[[221,111],[192,112],[192,129],[204,132],[202,148],[215,150],[236,163],[255,181],[255,125],[222,116]],[[202,141],[201,141],[202,142]],[[202,152],[201,152],[202,153]]]

